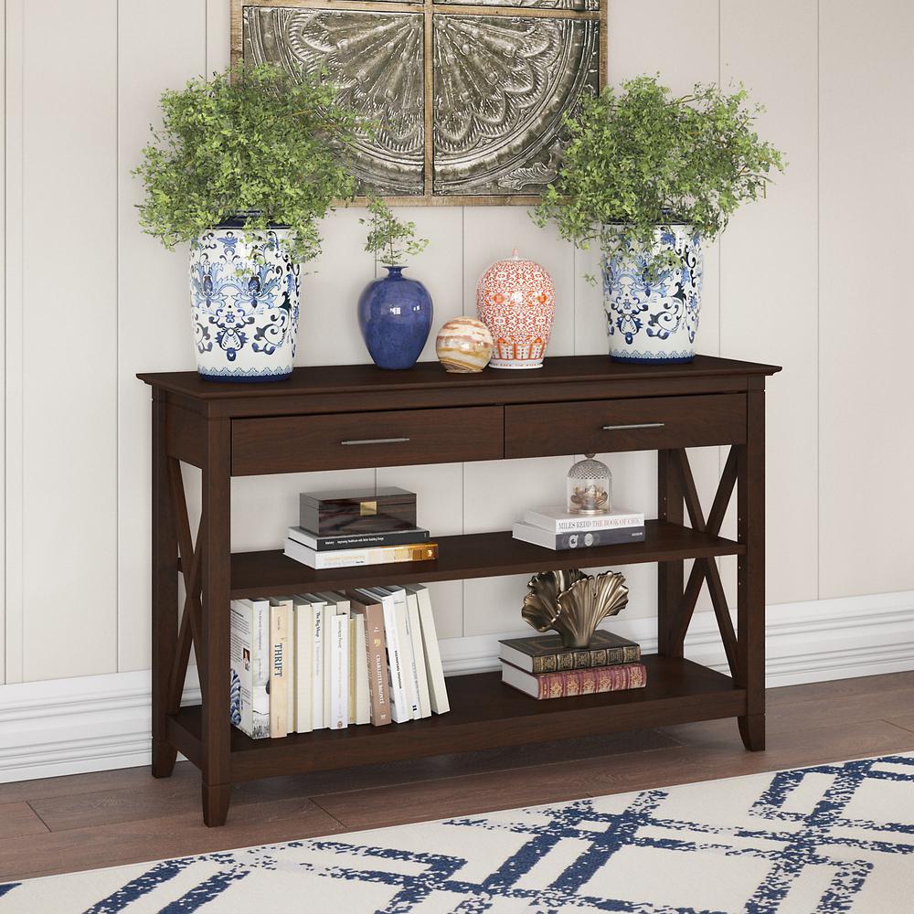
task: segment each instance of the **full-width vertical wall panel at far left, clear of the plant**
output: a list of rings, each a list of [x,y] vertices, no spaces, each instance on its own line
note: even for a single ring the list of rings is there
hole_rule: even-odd
[[[22,12],[26,205],[11,304],[23,315],[23,413],[12,446],[22,455],[22,677],[35,680],[117,664],[117,11],[115,0],[28,0]]]

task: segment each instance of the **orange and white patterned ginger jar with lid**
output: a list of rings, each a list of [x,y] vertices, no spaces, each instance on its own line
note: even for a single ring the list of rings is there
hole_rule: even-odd
[[[494,340],[493,368],[539,368],[556,313],[556,287],[538,263],[497,260],[476,285],[476,314]]]

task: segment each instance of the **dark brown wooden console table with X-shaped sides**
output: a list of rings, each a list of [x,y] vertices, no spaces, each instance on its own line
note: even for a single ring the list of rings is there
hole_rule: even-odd
[[[409,371],[305,367],[266,384],[219,384],[193,372],[139,375],[153,394],[154,776],[169,776],[182,752],[202,772],[206,824],[219,825],[233,783],[458,749],[715,717],[737,717],[746,748],[763,749],[764,390],[765,377],[779,370],[711,356],[688,365],[569,356],[547,358],[537,371],[468,375],[447,374],[437,362]],[[706,515],[685,449],[707,445],[730,448]],[[553,552],[503,531],[439,537],[440,558],[433,562],[324,571],[282,551],[231,552],[232,476],[618,451],[659,455],[657,520],[647,522],[642,543]],[[202,470],[196,537],[181,462]],[[719,536],[734,487],[735,541]],[[739,561],[735,629],[717,556]],[[448,679],[452,711],[441,717],[258,740],[229,724],[233,598],[636,562],[660,563],[659,647],[644,657],[646,688],[535,701],[503,685],[499,674],[484,673]],[[180,614],[179,575],[186,590]],[[730,675],[683,658],[705,583]],[[192,648],[202,704],[182,707]]]

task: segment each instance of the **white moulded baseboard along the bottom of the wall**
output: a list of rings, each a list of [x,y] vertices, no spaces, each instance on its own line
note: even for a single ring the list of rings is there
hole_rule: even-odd
[[[654,619],[611,628],[656,649]],[[442,641],[445,670],[497,669],[498,639],[523,633]],[[770,687],[914,670],[914,590],[770,606],[767,652]],[[726,672],[712,613],[696,614],[685,654]],[[193,669],[185,699],[199,701]],[[149,715],[148,671],[0,685],[0,783],[148,765]]]

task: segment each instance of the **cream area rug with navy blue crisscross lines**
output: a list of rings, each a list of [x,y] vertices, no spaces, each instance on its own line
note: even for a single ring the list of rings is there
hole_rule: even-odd
[[[901,914],[912,823],[887,756],[27,880],[0,914]]]

